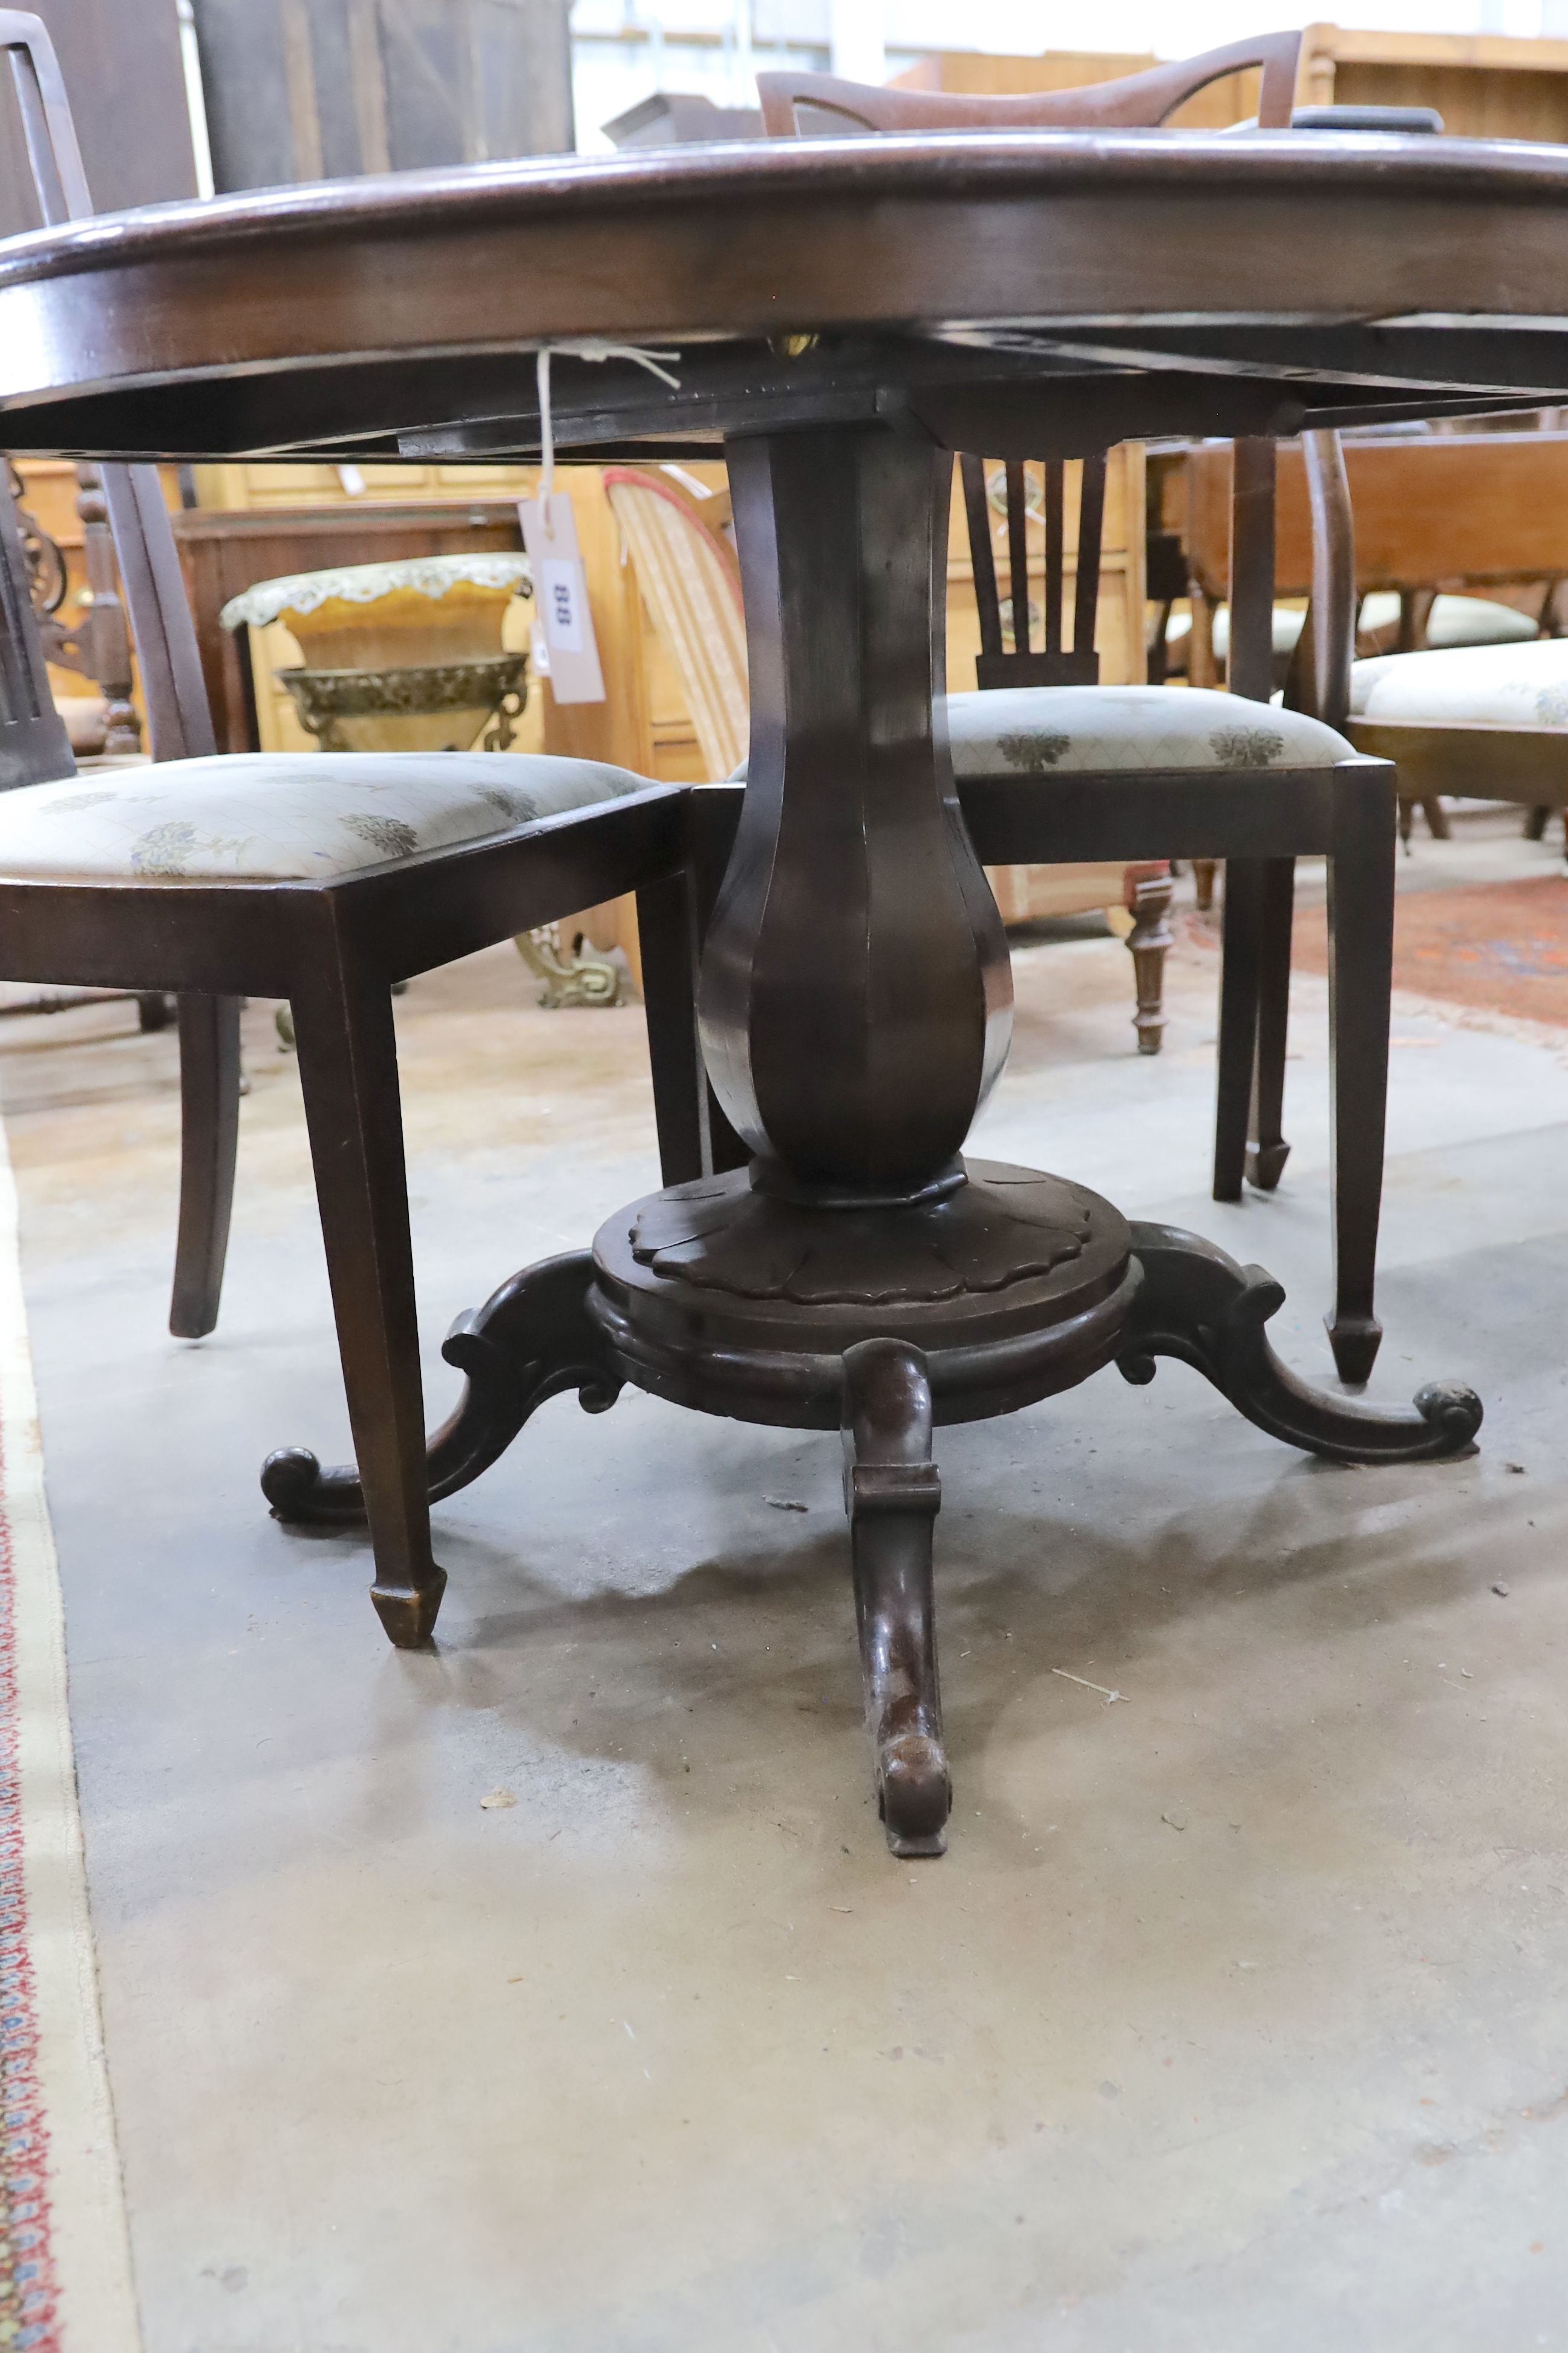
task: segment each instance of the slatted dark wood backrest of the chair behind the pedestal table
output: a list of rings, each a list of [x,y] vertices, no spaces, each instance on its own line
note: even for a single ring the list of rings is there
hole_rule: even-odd
[[[773,136],[802,136],[806,129],[933,132],[933,129],[1159,129],[1185,99],[1227,73],[1262,71],[1258,127],[1288,129],[1295,96],[1300,33],[1262,33],[1208,49],[1119,82],[1091,82],[1084,89],[1048,89],[1025,96],[973,96],[947,89],[875,89],[842,82],[825,73],[759,73],[762,118]],[[1326,471],[1324,471],[1326,468]],[[1077,687],[1098,685],[1100,661],[1093,649],[1100,588],[1100,532],[1105,520],[1105,456],[1086,456],[1079,475],[1077,581],[1072,598],[1072,642],[1063,642],[1065,600],[1065,480],[1060,459],[1044,461],[1044,499],[1030,504],[1032,478],[1023,459],[1006,459],[1001,478],[987,473],[983,456],[959,459],[969,553],[980,614],[980,687]],[[1324,513],[1333,506],[1333,468],[1324,459]],[[1009,595],[997,584],[992,492],[1006,518]],[[1030,616],[1030,513],[1044,522],[1044,645],[1032,642]],[[1316,508],[1314,508],[1316,515]],[[1326,551],[1324,588],[1338,602],[1349,598],[1335,565],[1342,565],[1349,532]],[[1232,656],[1229,687],[1267,701],[1274,685],[1272,607],[1274,607],[1274,445],[1237,442],[1232,506]],[[1338,609],[1338,605],[1335,605]],[[1319,631],[1321,640],[1321,631]],[[1349,640],[1347,640],[1349,642]],[[1302,673],[1305,675],[1305,673]]]

